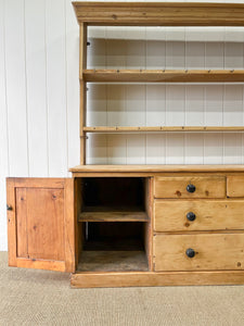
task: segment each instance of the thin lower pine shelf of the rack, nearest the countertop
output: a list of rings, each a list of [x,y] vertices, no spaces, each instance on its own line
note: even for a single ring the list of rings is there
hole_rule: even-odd
[[[244,126],[172,126],[172,127],[84,127],[85,133],[203,133],[203,131],[244,131]]]

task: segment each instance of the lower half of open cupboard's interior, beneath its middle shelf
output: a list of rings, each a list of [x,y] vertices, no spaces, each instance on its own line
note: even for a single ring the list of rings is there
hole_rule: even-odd
[[[78,272],[147,272],[147,227],[143,222],[86,222]]]

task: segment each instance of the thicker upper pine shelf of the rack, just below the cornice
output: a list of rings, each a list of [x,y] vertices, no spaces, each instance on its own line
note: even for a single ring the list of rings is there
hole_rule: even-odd
[[[93,83],[243,83],[244,70],[84,70]]]

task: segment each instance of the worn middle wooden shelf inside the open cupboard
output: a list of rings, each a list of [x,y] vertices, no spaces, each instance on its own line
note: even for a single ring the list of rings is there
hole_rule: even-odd
[[[149,216],[138,208],[125,208],[115,210],[114,208],[86,208],[78,218],[79,222],[147,222]]]

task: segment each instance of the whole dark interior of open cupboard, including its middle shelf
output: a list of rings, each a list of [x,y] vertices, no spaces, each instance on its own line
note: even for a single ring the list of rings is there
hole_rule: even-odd
[[[76,178],[77,272],[149,271],[150,178]]]

